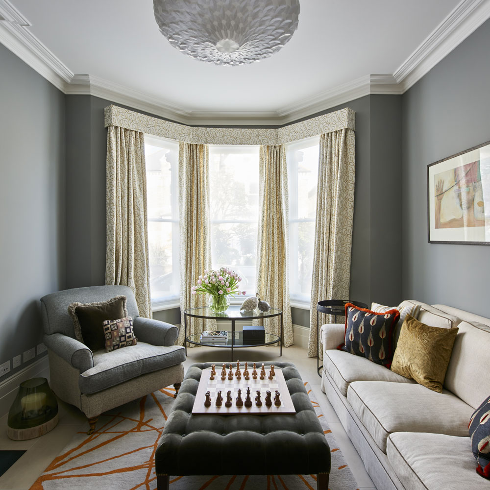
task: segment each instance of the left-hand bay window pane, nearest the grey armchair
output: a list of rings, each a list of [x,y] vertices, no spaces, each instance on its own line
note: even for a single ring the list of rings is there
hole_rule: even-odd
[[[152,301],[179,296],[178,143],[145,135]]]

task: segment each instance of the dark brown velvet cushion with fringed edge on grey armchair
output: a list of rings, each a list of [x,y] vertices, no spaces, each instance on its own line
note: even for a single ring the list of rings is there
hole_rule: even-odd
[[[68,313],[73,319],[75,339],[90,350],[105,349],[105,320],[127,317],[126,296],[115,296],[95,303],[72,303]]]

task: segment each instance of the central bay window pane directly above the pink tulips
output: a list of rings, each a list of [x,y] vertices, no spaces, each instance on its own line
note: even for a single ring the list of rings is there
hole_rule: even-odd
[[[211,257],[214,269],[238,272],[255,292],[259,148],[210,146]]]

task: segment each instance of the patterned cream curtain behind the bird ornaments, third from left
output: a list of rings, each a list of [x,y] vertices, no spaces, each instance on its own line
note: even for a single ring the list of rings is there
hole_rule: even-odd
[[[288,279],[288,172],[284,145],[260,147],[257,291],[283,310],[286,347],[293,344]],[[278,318],[264,319],[266,332],[280,335]]]

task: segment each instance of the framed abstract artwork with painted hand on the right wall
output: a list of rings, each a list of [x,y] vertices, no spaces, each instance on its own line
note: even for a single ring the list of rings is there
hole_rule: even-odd
[[[490,141],[427,166],[429,243],[490,245]]]

